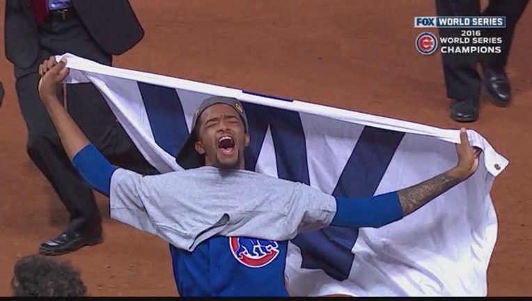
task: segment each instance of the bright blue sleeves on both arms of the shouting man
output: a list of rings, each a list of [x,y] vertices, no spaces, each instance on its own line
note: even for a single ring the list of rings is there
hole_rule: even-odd
[[[111,176],[117,168],[93,144],[81,149],[72,158],[72,164],[93,189],[109,196]],[[380,227],[402,218],[397,192],[357,199],[335,196],[335,199],[336,214],[331,226]]]

